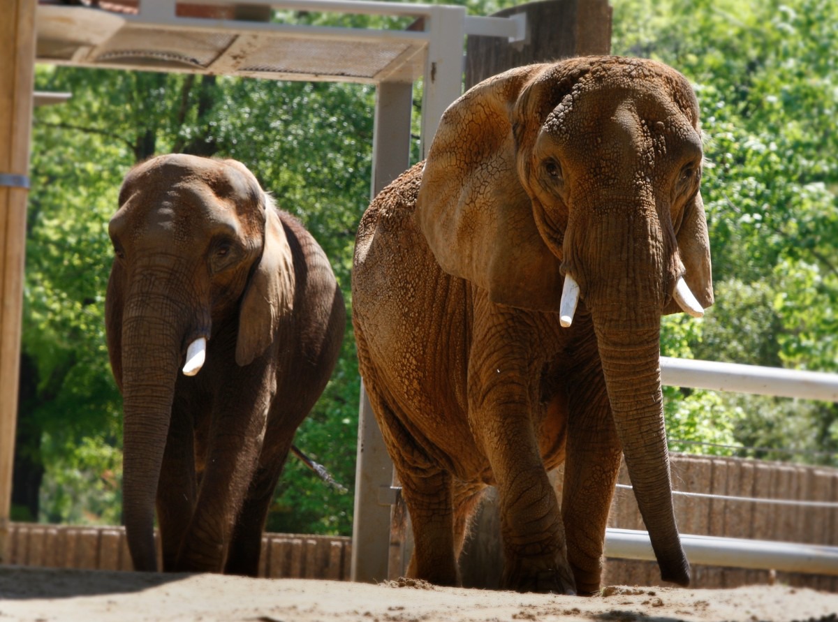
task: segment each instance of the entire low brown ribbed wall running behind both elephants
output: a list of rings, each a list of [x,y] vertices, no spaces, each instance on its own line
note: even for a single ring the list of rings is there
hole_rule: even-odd
[[[561,476],[554,474],[561,499]],[[838,469],[777,464],[760,460],[672,456],[674,490],[762,499],[838,501]],[[618,482],[629,484],[623,469]],[[499,518],[494,495],[478,513],[461,558],[467,587],[499,587],[502,569]],[[405,571],[410,554],[409,522],[396,505],[391,533],[391,578]],[[401,516],[401,518],[400,518]],[[753,538],[838,546],[838,509],[806,505],[771,505],[758,501],[706,499],[675,495],[675,516],[681,533]],[[401,529],[399,528],[401,526]],[[634,494],[618,488],[608,526],[644,529]],[[349,580],[351,539],[339,536],[266,534],[262,538],[260,575],[270,578]],[[48,568],[128,570],[122,527],[53,526],[13,523],[9,562]],[[608,559],[603,584],[660,584],[655,562]],[[838,592],[838,577],[768,570],[694,565],[696,588],[734,588],[753,583],[786,583]]]

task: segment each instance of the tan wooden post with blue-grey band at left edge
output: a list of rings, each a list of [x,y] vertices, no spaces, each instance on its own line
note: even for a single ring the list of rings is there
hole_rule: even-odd
[[[6,561],[18,414],[36,4],[7,0],[0,19],[0,563]]]

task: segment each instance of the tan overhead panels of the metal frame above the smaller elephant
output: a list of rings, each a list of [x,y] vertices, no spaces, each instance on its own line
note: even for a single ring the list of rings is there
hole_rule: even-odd
[[[96,9],[39,5],[37,57],[102,68],[375,83],[396,74],[415,80],[427,49],[426,39],[404,31],[332,29],[326,36],[202,21],[152,25]]]

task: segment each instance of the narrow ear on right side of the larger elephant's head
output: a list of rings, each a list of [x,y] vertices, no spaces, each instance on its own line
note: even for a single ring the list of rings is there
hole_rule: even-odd
[[[713,302],[713,275],[710,263],[710,236],[707,235],[707,220],[704,214],[704,201],[701,191],[684,208],[675,238],[678,241],[678,254],[684,264],[684,280],[702,308],[710,307]],[[675,300],[670,300],[664,314],[675,314],[681,308]]]

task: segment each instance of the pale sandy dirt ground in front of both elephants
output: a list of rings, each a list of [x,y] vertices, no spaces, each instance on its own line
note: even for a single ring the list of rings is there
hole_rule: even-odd
[[[779,585],[606,588],[594,598],[210,574],[0,568],[0,622],[838,622],[838,595]]]

